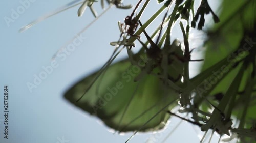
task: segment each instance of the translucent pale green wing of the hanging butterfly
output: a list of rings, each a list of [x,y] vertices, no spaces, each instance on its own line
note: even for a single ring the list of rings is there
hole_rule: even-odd
[[[150,74],[134,82],[140,72],[130,61],[120,61],[111,65],[80,101],[76,102],[98,72],[76,83],[65,93],[65,98],[118,131],[162,129],[169,119],[166,111],[177,105],[178,93],[164,88],[162,80]]]

